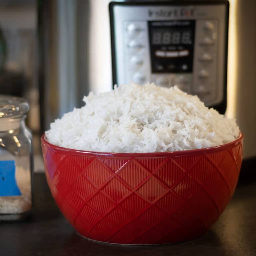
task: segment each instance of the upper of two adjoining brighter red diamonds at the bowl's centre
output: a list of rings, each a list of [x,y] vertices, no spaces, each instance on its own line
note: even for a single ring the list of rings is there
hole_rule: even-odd
[[[130,161],[129,164],[122,168],[118,176],[133,189],[144,182],[149,173],[135,161]]]

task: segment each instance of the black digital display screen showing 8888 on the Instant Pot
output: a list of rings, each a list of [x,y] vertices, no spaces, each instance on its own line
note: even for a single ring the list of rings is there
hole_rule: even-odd
[[[152,73],[193,70],[195,20],[148,21]]]

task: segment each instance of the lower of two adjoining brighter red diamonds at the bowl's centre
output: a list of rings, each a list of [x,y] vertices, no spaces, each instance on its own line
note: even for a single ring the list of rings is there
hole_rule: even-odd
[[[154,177],[147,180],[136,192],[150,202],[162,196],[167,189]]]

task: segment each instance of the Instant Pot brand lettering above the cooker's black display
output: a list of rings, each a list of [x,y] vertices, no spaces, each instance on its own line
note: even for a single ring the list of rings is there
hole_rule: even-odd
[[[149,17],[191,17],[194,16],[194,9],[179,8],[172,10],[148,10]]]

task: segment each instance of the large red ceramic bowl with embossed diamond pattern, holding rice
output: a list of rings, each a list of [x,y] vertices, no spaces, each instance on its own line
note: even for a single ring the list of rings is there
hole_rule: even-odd
[[[41,140],[63,215],[81,235],[110,243],[203,235],[232,197],[242,161],[242,134],[218,147],[164,153],[87,152]]]

